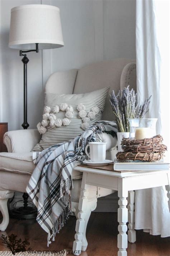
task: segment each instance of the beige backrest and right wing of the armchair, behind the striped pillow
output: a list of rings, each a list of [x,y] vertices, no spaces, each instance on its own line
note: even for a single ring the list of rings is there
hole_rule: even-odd
[[[122,77],[122,84],[120,84],[122,71],[127,64]],[[131,82],[131,87],[136,90],[136,64],[134,60],[125,58],[105,60],[89,64],[78,70],[73,93],[88,93],[110,87],[102,118],[111,121],[114,116],[109,102],[109,94],[112,93],[112,90],[117,94],[122,89],[121,87],[128,85],[128,82]]]

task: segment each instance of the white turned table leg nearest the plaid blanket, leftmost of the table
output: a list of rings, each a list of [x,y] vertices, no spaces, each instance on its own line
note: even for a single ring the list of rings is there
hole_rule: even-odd
[[[86,176],[86,173],[83,173],[84,180]],[[82,185],[81,185],[81,197],[79,199],[79,212],[78,212],[78,219],[76,221],[76,234],[75,234],[75,241],[73,243],[73,252],[74,255],[80,255],[81,253],[81,246],[82,246],[82,238],[85,228],[85,216],[86,216],[86,206],[88,204],[88,190],[86,189],[88,185],[85,184],[85,181],[83,182],[82,179]]]

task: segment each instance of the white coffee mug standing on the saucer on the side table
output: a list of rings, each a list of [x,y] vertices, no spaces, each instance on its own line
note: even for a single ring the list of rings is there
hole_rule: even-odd
[[[89,142],[85,148],[86,155],[92,162],[103,162],[106,159],[106,144],[106,142]],[[90,147],[90,154],[88,147]]]

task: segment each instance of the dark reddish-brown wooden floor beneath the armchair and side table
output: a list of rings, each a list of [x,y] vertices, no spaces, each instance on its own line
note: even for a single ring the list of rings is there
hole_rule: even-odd
[[[56,235],[55,242],[47,247],[47,233],[39,226],[36,220],[10,219],[6,232],[14,233],[22,239],[29,239],[32,250],[72,250],[75,235],[76,218],[70,216],[60,234]],[[87,228],[88,248],[81,256],[117,256],[117,214],[92,213]],[[7,250],[0,243],[0,251]],[[137,241],[128,243],[128,256],[170,256],[170,238],[161,238],[137,230]],[[72,254],[68,254],[72,255]]]

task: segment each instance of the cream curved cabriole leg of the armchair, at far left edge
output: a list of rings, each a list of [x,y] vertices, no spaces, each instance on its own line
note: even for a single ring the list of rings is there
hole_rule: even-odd
[[[8,199],[13,197],[14,192],[12,191],[5,191],[5,190],[0,190],[0,211],[1,214],[3,215],[3,221],[0,224],[0,230],[5,231],[9,224],[9,213],[8,213],[8,207],[7,207],[7,202]]]

